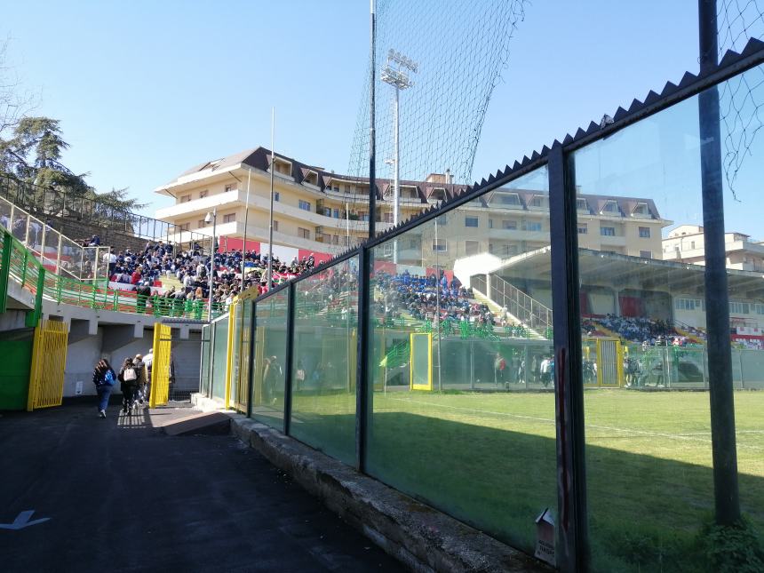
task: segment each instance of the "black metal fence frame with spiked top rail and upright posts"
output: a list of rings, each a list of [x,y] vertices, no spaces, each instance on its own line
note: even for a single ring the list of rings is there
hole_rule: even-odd
[[[685,74],[679,84],[667,83],[661,93],[649,92],[644,101],[634,99],[628,110],[619,107],[612,123],[590,123],[586,130],[579,129],[574,136],[554,141],[552,147],[543,147],[530,157],[523,157],[513,167],[491,175],[469,187],[439,208],[431,208],[418,217],[410,219],[346,251],[300,275],[289,283],[283,283],[254,301],[252,321],[256,320],[256,306],[282,290],[289,290],[289,316],[287,320],[287,363],[285,376],[284,432],[290,434],[291,418],[290,386],[292,376],[291,346],[294,335],[295,285],[306,278],[321,273],[357,256],[358,276],[358,361],[356,371],[356,460],[355,467],[366,470],[366,442],[368,418],[372,412],[369,369],[370,325],[370,277],[373,269],[373,250],[378,245],[403,235],[444,213],[473,201],[477,197],[519,179],[540,167],[547,167],[550,196],[550,225],[553,270],[553,346],[555,363],[555,416],[557,442],[558,519],[557,562],[562,571],[589,570],[589,544],[587,538],[588,517],[585,487],[585,435],[584,392],[581,361],[581,315],[579,308],[579,277],[577,261],[577,209],[575,173],[572,153],[594,141],[607,138],[625,127],[684,99],[694,97],[729,78],[764,63],[764,43],[752,39],[741,53],[728,52],[718,65],[708,67],[699,75]],[[721,237],[723,243],[723,235]],[[723,244],[721,245],[723,249]],[[251,326],[251,328],[253,328]],[[254,331],[251,344],[255,344]],[[211,346],[211,352],[214,349]],[[254,353],[250,354],[254,360]],[[247,411],[251,412],[250,401]],[[713,405],[712,405],[713,408]],[[716,469],[716,468],[714,468]],[[717,519],[719,516],[717,515]]]

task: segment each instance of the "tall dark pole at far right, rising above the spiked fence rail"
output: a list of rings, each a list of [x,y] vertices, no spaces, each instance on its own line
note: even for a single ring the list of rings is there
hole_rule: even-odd
[[[698,0],[700,71],[719,61],[716,0]],[[740,520],[735,436],[735,397],[732,387],[732,346],[729,339],[727,252],[724,244],[724,195],[721,164],[719,88],[698,94],[700,179],[703,193],[705,249],[705,323],[708,346],[709,398],[713,491],[716,521]]]

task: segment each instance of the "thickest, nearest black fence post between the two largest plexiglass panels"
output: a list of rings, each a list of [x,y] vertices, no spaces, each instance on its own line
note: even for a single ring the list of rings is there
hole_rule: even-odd
[[[559,142],[549,152],[552,235],[554,394],[557,426],[557,565],[564,572],[589,570],[584,380],[575,173]]]

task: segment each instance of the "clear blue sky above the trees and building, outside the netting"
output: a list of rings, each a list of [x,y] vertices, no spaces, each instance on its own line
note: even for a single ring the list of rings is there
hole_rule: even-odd
[[[430,0],[436,2],[437,0]],[[536,0],[490,102],[474,179],[697,68],[696,0]],[[0,37],[65,162],[99,190],[152,190],[187,167],[268,146],[346,171],[368,0],[4,3]]]

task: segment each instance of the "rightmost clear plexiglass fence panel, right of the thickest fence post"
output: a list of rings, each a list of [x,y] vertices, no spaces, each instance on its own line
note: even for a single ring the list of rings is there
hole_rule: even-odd
[[[753,257],[764,249],[750,236],[760,228],[762,163],[753,153],[760,144],[751,132],[747,139],[736,134],[740,110],[723,95],[721,115],[731,123],[722,120],[720,139],[702,138],[699,126],[708,120],[699,99],[571,158],[585,340],[586,480],[598,571],[707,565],[696,544],[713,518],[708,388],[721,381],[709,374],[706,348],[702,177],[713,169],[701,159],[704,146],[742,144],[752,155],[744,164],[749,171],[735,171],[720,149],[726,158],[730,326],[738,346],[732,363],[741,500],[744,513],[764,529],[764,402],[759,393],[743,391],[746,383],[759,384],[752,370],[762,362],[756,343],[742,342],[764,340],[756,315],[757,305],[764,311],[764,265]],[[760,123],[752,108],[746,117]],[[736,178],[737,197],[728,188]]]

